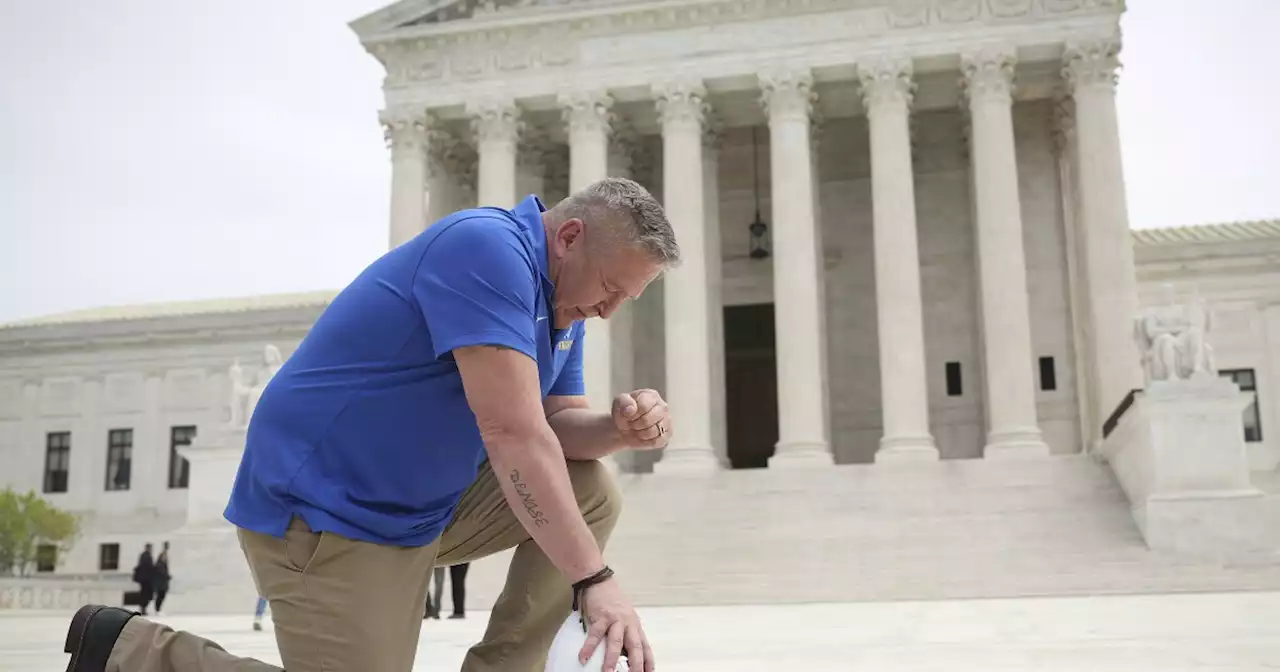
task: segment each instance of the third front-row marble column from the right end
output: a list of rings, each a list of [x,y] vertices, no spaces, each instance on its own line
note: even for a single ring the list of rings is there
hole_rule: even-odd
[[[859,65],[870,122],[876,315],[884,435],[876,461],[937,460],[924,367],[915,173],[908,127],[915,84],[910,59]]]

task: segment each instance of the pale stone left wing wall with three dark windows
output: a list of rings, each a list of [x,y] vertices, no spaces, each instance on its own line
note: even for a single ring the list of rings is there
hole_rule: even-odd
[[[234,316],[232,319],[236,319]],[[192,319],[174,317],[175,324]],[[247,375],[274,343],[287,357],[302,330],[278,324],[269,334],[187,334],[178,342],[143,340],[33,348],[5,356],[0,365],[0,488],[35,490],[54,506],[82,517],[82,532],[59,558],[58,573],[99,571],[101,544],[119,544],[128,572],[142,545],[159,553],[166,534],[187,517],[187,490],[169,488],[170,429],[225,421],[227,369],[239,358]],[[77,332],[79,328],[65,328]],[[106,490],[108,433],[132,429],[129,488]],[[44,493],[46,435],[70,433],[65,493]],[[175,570],[177,572],[177,570]]]

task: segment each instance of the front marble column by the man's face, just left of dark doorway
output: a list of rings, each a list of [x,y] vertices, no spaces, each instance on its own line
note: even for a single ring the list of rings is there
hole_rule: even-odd
[[[712,326],[703,191],[705,91],[699,81],[673,81],[654,86],[653,92],[662,122],[663,205],[681,250],[681,264],[663,278],[664,392],[678,424],[654,471],[714,471],[719,462],[712,452]]]

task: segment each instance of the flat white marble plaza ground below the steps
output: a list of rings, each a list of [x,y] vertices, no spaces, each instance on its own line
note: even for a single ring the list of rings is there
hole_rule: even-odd
[[[641,611],[663,672],[1247,672],[1280,667],[1280,594],[900,602]],[[486,613],[422,626],[417,672],[456,672]],[[279,664],[248,616],[174,627]],[[0,616],[0,669],[65,664],[59,616]]]

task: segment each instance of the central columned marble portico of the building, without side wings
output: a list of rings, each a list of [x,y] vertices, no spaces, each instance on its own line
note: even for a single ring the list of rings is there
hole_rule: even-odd
[[[685,261],[589,323],[589,394],[663,390],[664,462],[763,466],[1079,452],[1140,387],[1121,9],[404,0],[352,28],[387,70],[390,244],[639,180]]]

